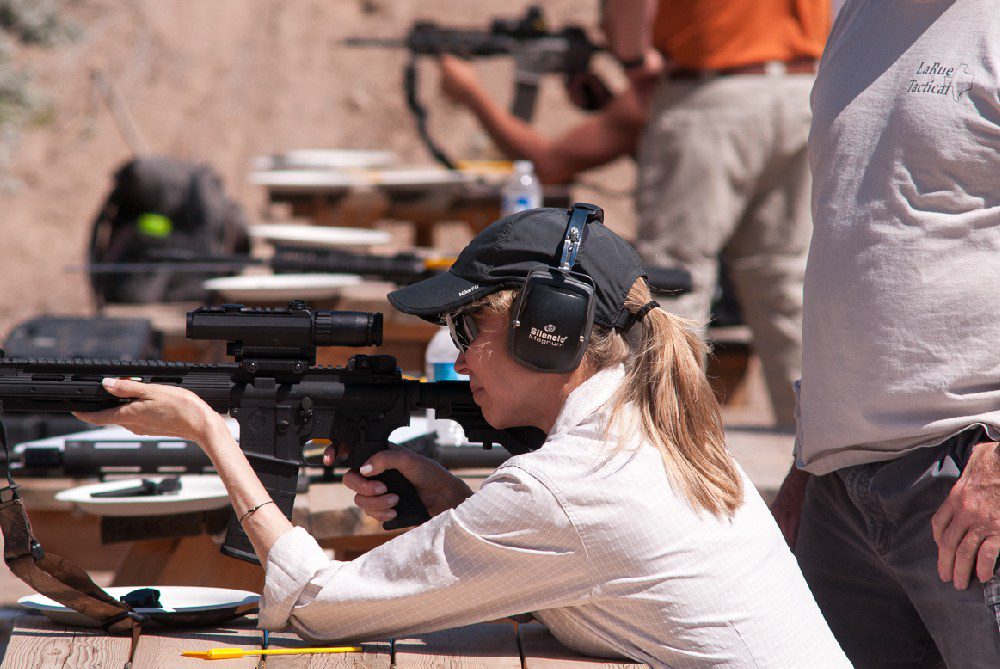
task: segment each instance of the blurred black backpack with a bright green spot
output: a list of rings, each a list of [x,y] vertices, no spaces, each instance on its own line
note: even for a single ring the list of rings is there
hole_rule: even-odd
[[[123,164],[94,220],[91,263],[134,263],[245,254],[250,238],[243,209],[226,196],[208,165],[146,156]],[[215,274],[91,274],[98,305],[204,301],[202,282]]]

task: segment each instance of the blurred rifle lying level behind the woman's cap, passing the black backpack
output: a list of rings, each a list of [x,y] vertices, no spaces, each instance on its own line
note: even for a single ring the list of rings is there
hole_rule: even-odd
[[[139,274],[145,272],[226,272],[254,265],[269,266],[275,274],[333,273],[391,281],[401,286],[446,272],[454,258],[423,258],[416,253],[391,256],[365,255],[343,250],[307,247],[280,247],[271,258],[249,256],[192,256],[155,254],[142,262],[94,263],[86,266],[91,274]],[[650,288],[671,297],[691,292],[691,274],[680,267],[646,268]]]

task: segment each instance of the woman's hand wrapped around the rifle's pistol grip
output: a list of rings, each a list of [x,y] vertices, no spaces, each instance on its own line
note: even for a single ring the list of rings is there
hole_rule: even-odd
[[[327,447],[323,454],[323,462],[331,465],[336,453],[336,447]],[[472,490],[464,481],[439,463],[417,455],[407,448],[390,444],[388,450],[379,451],[369,458],[368,462],[361,466],[360,473],[350,471],[344,474],[344,485],[356,493],[354,503],[366,514],[383,523],[396,517],[393,507],[396,506],[399,497],[388,493],[381,481],[368,477],[377,476],[387,469],[398,470],[413,484],[420,501],[427,507],[431,516],[455,508],[472,495]]]

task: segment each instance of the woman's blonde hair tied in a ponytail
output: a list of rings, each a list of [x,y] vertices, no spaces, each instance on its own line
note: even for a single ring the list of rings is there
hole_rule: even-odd
[[[506,315],[516,297],[516,291],[503,290],[470,306]],[[635,314],[651,300],[640,278],[625,308]],[[622,440],[638,429],[659,449],[667,474],[692,508],[731,516],[743,503],[743,483],[705,376],[708,349],[693,325],[659,308],[628,333],[595,325],[582,364],[593,372],[625,365],[625,381],[610,402],[609,429],[618,427]]]

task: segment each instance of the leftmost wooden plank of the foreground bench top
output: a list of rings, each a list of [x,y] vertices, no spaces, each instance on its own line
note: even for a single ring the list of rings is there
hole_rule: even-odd
[[[17,619],[2,669],[124,667],[130,646],[127,637],[57,625],[42,616],[26,614]]]

